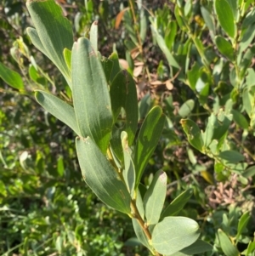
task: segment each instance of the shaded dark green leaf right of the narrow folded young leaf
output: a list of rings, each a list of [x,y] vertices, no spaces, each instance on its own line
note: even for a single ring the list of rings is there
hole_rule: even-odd
[[[133,163],[136,171],[136,188],[144,173],[144,168],[160,139],[165,119],[166,117],[162,114],[159,106],[152,108],[144,119],[134,150]]]

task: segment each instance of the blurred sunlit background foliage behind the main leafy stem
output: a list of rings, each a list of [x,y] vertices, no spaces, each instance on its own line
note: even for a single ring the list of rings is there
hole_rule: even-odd
[[[201,225],[202,239],[213,245],[206,255],[225,253],[218,229],[243,252],[255,226],[253,103],[246,104],[255,85],[253,1],[238,2],[239,37],[222,26],[209,0],[56,2],[76,39],[99,20],[101,54],[116,51],[135,77],[139,120],[151,106],[163,107],[167,124],[144,185],[166,171],[168,202],[194,191],[181,215]],[[20,73],[24,87],[0,80],[0,255],[149,255],[130,219],[106,208],[82,181],[71,129],[34,100],[35,88],[67,101],[71,92],[32,46],[27,26],[25,1],[2,0],[0,62]],[[203,150],[192,146],[180,122],[186,117],[205,134],[213,118],[223,123],[211,137],[220,146],[211,140]]]

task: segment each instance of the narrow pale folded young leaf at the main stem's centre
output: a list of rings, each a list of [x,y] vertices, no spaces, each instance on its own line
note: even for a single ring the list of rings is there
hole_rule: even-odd
[[[133,197],[133,189],[135,185],[135,169],[133,165],[133,159],[132,159],[132,151],[128,147],[128,137],[126,132],[122,132],[122,149],[123,149],[123,155],[124,155],[124,163],[125,168],[123,170],[123,178],[125,179],[127,189],[130,193],[130,195]]]

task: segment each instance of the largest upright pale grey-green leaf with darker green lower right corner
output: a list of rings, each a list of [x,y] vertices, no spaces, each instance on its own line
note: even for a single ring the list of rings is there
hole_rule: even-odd
[[[72,48],[71,82],[80,133],[83,138],[94,139],[105,154],[111,138],[111,99],[103,67],[84,37]]]

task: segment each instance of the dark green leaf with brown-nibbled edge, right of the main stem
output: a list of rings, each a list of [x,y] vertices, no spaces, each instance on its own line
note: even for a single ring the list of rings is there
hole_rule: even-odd
[[[203,152],[204,142],[201,137],[200,128],[197,124],[190,119],[181,119],[180,123],[188,137],[190,145],[194,146],[198,151]]]

